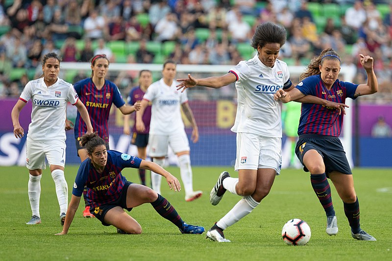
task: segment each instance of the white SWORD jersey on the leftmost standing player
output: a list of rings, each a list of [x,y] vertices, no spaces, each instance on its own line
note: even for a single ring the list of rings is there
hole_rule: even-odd
[[[65,119],[67,102],[76,104],[78,96],[73,85],[60,78],[47,87],[44,78],[29,81],[21,96],[24,102],[31,99],[31,123],[27,138],[33,141],[66,140]]]

